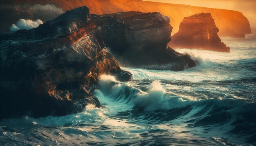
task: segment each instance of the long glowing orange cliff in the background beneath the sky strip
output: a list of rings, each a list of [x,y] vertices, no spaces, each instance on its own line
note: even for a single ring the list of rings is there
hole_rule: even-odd
[[[171,19],[170,24],[173,26],[173,34],[179,30],[180,22],[182,22],[184,17],[196,13],[209,12],[213,16],[213,19],[215,19],[216,26],[220,29],[218,33],[220,36],[244,37],[244,34],[251,33],[249,21],[238,11],[193,7],[181,4],[146,2],[142,0],[2,0],[0,4],[0,14],[5,13],[12,15],[10,10],[19,10],[20,5],[24,3],[31,5],[31,7],[34,7],[34,4],[41,4],[42,7],[44,4],[52,4],[54,7],[61,8],[63,11],[86,5],[90,9],[90,13],[94,14],[110,14],[124,11],[160,12]],[[24,13],[28,12],[25,11]],[[46,13],[52,12],[45,11],[44,13],[40,13],[40,15],[46,15]],[[56,15],[58,15],[58,13],[59,12],[56,12]],[[33,18],[40,19],[40,17],[35,16]],[[1,22],[5,23],[5,20],[1,20]],[[2,25],[6,26],[7,24]]]

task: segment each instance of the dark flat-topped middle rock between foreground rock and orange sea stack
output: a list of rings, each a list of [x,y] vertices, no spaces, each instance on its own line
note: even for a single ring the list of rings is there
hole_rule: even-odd
[[[101,35],[122,66],[181,71],[195,66],[189,55],[167,46],[172,27],[160,13],[123,12],[92,15]]]

